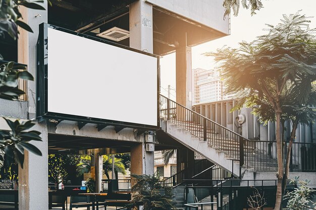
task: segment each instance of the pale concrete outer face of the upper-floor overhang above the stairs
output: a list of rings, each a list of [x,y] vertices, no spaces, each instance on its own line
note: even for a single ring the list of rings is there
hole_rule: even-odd
[[[224,20],[223,0],[146,0],[146,2],[201,23],[209,28],[230,34],[229,17]]]

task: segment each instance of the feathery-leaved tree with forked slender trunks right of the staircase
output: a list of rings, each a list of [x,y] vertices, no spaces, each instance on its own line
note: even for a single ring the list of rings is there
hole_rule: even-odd
[[[245,104],[265,120],[276,121],[278,185],[275,209],[281,207],[286,186],[283,177],[287,178],[289,171],[295,125],[314,118],[310,103],[314,102],[312,82],[316,79],[315,29],[309,29],[310,21],[299,12],[284,15],[277,26],[267,25],[268,34],[250,43],[240,43],[239,49],[222,48],[206,53],[219,62],[228,92],[240,97],[234,108]],[[268,112],[260,112],[264,108]],[[282,122],[285,119],[292,120],[293,129],[284,168]]]

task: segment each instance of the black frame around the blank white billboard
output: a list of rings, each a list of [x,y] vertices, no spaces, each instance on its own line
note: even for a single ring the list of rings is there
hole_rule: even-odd
[[[130,51],[138,52],[141,54],[149,55],[157,58],[157,125],[146,125],[146,124],[138,124],[132,122],[124,122],[124,121],[116,121],[109,119],[101,119],[94,118],[88,116],[77,116],[71,114],[63,114],[56,112],[48,112],[47,101],[48,101],[48,28],[52,28],[55,30],[63,31],[69,34],[73,34],[76,36],[80,36],[83,38],[87,38],[90,40],[98,41],[104,44],[109,44],[112,46],[120,47],[123,49],[127,49]],[[55,119],[55,120],[70,120],[75,122],[82,123],[94,123],[94,124],[103,124],[103,125],[114,125],[121,127],[130,127],[137,128],[142,130],[158,130],[160,129],[160,56],[155,55],[149,52],[141,51],[138,49],[134,49],[131,47],[127,47],[124,45],[120,45],[105,39],[93,37],[90,35],[78,33],[75,31],[71,31],[69,29],[65,29],[62,27],[54,26],[47,23],[41,23],[39,25],[39,34],[38,40],[36,44],[36,117],[38,119]],[[145,96],[143,96],[145,98]]]

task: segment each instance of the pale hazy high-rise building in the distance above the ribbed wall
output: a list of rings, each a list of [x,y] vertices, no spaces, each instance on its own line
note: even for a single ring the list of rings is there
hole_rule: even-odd
[[[194,74],[194,103],[221,101],[233,98],[233,95],[224,95],[225,84],[217,69],[192,69]]]

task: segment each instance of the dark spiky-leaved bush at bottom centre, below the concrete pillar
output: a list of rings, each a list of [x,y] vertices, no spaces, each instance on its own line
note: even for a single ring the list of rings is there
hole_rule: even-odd
[[[128,206],[137,206],[142,203],[144,210],[162,210],[175,208],[172,201],[172,188],[163,187],[159,177],[154,175],[132,174],[134,185],[132,186],[133,200]],[[161,194],[163,192],[165,194]]]

